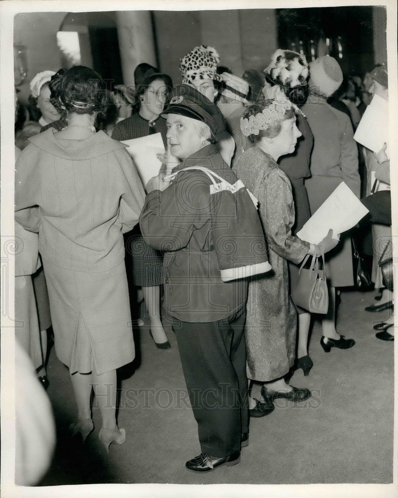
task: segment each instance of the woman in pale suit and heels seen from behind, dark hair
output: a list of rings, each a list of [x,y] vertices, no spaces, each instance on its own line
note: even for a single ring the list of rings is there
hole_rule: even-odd
[[[84,440],[94,428],[94,388],[108,450],[125,439],[116,424],[116,369],[135,356],[122,234],[138,222],[145,194],[125,145],[95,132],[106,107],[101,77],[69,69],[60,98],[68,126],[32,137],[16,162],[15,220],[39,233],[55,351],[78,407],[72,433]]]

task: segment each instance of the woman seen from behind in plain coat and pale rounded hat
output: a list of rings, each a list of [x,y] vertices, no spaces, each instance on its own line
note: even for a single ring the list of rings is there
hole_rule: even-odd
[[[314,134],[312,177],[305,183],[313,214],[342,181],[358,198],[360,196],[358,149],[352,124],[347,115],[326,102],[342,81],[343,73],[333,57],[323,56],[310,63],[310,96],[302,111]],[[348,349],[355,341],[344,339],[336,331],[335,288],[354,285],[349,231],[341,235],[340,244],[328,254],[326,275],[330,284],[329,309],[322,319],[320,344],[325,352],[332,347]]]

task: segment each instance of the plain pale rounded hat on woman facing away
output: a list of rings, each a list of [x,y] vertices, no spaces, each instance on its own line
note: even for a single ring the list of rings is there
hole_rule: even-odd
[[[317,87],[317,93],[330,97],[343,82],[343,73],[338,62],[329,55],[318,57],[310,63],[310,87]]]

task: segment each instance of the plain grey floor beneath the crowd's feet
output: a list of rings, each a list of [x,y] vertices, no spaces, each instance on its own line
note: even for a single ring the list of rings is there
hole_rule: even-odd
[[[312,397],[301,403],[276,400],[273,413],[251,419],[249,446],[242,449],[239,465],[205,475],[184,466],[200,449],[175,336],[169,327],[169,350],[155,347],[148,328],[135,331],[139,354],[134,364],[119,372],[118,423],[126,429],[127,438],[121,446],[111,445],[109,455],[98,441],[100,417],[95,402],[95,430],[84,445],[79,437],[68,435],[75,401],[68,371],[53,349],[48,394],[58,444],[40,485],[392,483],[394,342],[375,338],[373,325],[387,318],[387,312],[364,311],[372,303],[374,292],[342,291],[337,329],[355,339],[356,345],[324,353],[319,345],[320,324],[315,321],[310,341],[314,367],[308,377],[298,371],[291,380],[293,385],[310,388]],[[185,496],[194,494],[187,491]],[[254,495],[242,491],[238,496]]]

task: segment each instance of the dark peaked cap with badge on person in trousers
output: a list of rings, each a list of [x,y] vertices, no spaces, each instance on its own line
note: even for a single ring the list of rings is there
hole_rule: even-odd
[[[160,116],[178,114],[207,124],[215,135],[225,130],[225,121],[220,109],[196,88],[177,85],[171,93],[170,104]]]

